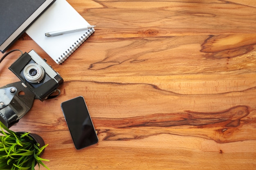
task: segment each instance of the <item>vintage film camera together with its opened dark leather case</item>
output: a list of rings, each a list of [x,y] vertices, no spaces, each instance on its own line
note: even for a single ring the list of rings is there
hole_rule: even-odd
[[[9,69],[21,82],[0,87],[0,121],[8,128],[29,111],[34,98],[44,101],[63,83],[63,78],[34,50],[21,55]]]

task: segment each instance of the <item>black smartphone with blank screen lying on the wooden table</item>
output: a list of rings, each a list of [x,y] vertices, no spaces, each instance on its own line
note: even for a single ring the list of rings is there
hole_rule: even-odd
[[[98,143],[99,139],[83,96],[61,103],[61,109],[76,149]]]

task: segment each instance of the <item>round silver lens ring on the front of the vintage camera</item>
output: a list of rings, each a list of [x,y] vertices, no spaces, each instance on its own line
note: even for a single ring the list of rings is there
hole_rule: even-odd
[[[42,66],[31,63],[27,64],[23,70],[25,79],[30,83],[39,83],[45,76],[45,71]]]

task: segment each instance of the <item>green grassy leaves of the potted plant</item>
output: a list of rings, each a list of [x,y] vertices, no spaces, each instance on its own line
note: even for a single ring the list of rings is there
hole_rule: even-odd
[[[36,164],[44,166],[40,154],[47,145],[35,144],[29,132],[13,132],[0,121],[0,169],[1,170],[34,170]],[[40,147],[40,148],[39,148]]]

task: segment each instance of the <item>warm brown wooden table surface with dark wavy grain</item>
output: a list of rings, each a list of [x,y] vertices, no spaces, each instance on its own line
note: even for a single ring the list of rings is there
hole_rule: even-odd
[[[34,49],[64,79],[10,128],[43,137],[51,170],[256,169],[255,0],[67,1],[97,26],[62,65],[27,34],[10,48]],[[18,55],[0,86],[19,81]],[[79,95],[99,137],[82,150],[60,106]]]

